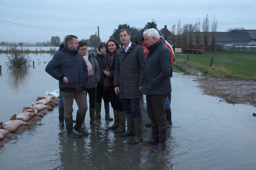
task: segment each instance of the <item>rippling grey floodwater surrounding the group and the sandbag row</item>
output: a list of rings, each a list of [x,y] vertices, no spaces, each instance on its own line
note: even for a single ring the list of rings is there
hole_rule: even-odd
[[[5,55],[0,54],[0,122],[31,106],[37,96],[58,89],[58,81],[44,71],[53,56],[30,57],[36,63],[34,69],[9,70],[3,63]],[[104,119],[103,108],[98,127],[90,126],[86,115],[89,136],[67,137],[65,128],[58,126],[55,108],[4,144],[0,169],[255,169],[256,117],[252,113],[256,108],[203,95],[194,80],[179,73],[171,78],[173,126],[167,129],[167,148],[160,153],[142,143],[130,145],[132,137],[119,137],[106,129],[113,122]],[[73,107],[75,117],[75,102]],[[151,128],[144,126],[148,122],[145,99],[141,110],[143,138],[148,140]],[[113,111],[110,114],[113,117]]]

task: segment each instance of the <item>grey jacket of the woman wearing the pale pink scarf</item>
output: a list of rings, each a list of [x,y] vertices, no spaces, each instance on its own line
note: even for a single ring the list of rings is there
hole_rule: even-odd
[[[100,68],[98,62],[94,56],[89,53],[88,60],[92,65],[93,75],[88,76],[86,83],[86,88],[95,88],[97,87],[97,82],[100,80]]]

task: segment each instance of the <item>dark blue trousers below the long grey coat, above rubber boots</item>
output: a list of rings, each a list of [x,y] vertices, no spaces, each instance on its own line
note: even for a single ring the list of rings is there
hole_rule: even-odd
[[[133,118],[141,118],[140,98],[121,99],[126,114],[132,114]]]

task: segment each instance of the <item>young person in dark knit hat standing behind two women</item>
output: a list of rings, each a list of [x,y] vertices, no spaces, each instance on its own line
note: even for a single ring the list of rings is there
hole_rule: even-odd
[[[95,56],[100,70],[102,69],[102,63],[104,59],[104,55],[106,53],[106,43],[101,42],[98,45],[97,55]],[[104,108],[105,108],[105,119],[106,120],[113,120],[112,117],[109,115],[109,101],[103,97],[103,89],[104,89],[104,73],[100,74],[100,81],[97,84],[97,91],[96,91],[96,104],[95,104],[95,119],[101,118],[101,101],[103,98],[104,101]]]

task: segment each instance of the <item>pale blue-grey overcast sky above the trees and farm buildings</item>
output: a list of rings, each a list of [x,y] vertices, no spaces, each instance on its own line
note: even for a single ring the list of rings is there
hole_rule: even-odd
[[[136,28],[143,28],[152,19],[157,28],[171,30],[173,24],[181,25],[195,23],[208,14],[210,24],[213,15],[218,23],[219,32],[226,32],[228,28],[244,27],[256,30],[256,1],[255,0],[214,0],[214,1],[153,1],[153,0],[0,0],[0,20],[22,24],[12,24],[0,21],[0,42],[46,42],[51,36],[59,36],[61,41],[65,35],[73,34],[78,39],[89,39],[97,32],[99,26],[101,40],[108,41],[113,30],[119,24],[129,24]],[[14,26],[16,25],[16,26]],[[29,25],[33,29],[28,29]],[[19,26],[19,27],[17,27]],[[22,28],[26,27],[26,28]],[[42,28],[55,28],[55,31],[44,31]],[[91,28],[94,27],[94,28]],[[83,29],[86,31],[58,30]],[[35,30],[39,29],[39,30]],[[202,29],[201,29],[202,30]],[[60,32],[61,31],[61,32]]]

